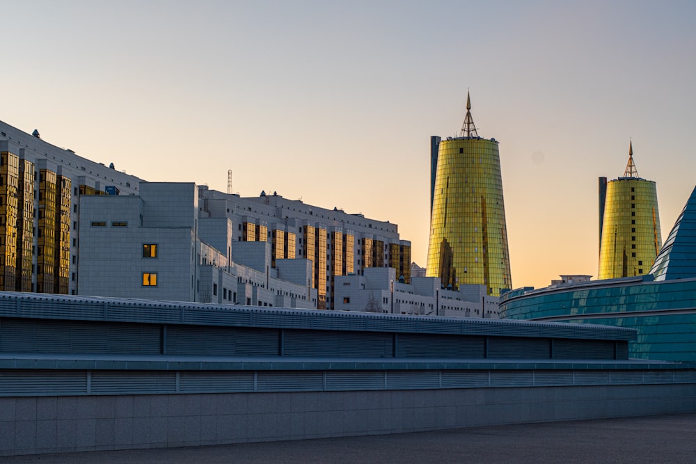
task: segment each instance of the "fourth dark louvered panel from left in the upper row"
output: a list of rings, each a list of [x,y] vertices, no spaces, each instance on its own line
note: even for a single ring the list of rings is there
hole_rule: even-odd
[[[484,337],[399,334],[397,358],[484,358]]]

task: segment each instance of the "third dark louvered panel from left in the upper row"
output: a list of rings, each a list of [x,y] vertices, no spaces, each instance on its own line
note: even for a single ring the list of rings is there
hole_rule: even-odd
[[[283,355],[336,358],[391,358],[393,337],[386,333],[285,330]]]

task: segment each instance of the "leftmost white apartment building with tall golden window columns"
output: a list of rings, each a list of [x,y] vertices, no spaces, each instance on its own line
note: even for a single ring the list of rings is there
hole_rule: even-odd
[[[80,199],[140,182],[0,121],[0,290],[78,294]]]

